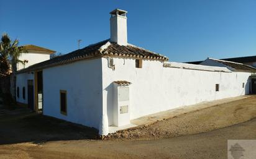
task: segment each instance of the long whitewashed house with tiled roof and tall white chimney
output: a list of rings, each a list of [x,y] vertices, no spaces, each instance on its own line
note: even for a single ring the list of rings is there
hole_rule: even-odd
[[[30,87],[30,92],[17,101],[106,135],[109,127],[125,126],[131,119],[245,95],[256,85],[250,84],[254,67],[168,62],[166,56],[131,45],[127,12],[110,14],[109,40],[21,69],[17,87]]]

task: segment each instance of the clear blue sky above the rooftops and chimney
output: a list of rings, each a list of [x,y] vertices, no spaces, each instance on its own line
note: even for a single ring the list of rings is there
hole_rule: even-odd
[[[256,55],[255,0],[0,0],[0,33],[69,53],[109,38],[116,8],[128,11],[129,43],[170,61]]]

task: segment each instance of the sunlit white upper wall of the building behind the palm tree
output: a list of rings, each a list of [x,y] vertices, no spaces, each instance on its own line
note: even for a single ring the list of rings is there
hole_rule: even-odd
[[[50,54],[29,51],[28,53],[22,53],[19,59],[21,61],[27,60],[29,62],[25,63],[25,66],[21,63],[17,64],[17,70],[24,69],[26,67],[29,67],[33,64],[37,64],[42,61],[46,61],[50,59]]]

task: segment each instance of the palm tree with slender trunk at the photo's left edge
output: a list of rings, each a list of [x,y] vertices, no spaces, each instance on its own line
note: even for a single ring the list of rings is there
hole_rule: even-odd
[[[17,73],[17,64],[21,62],[24,64],[24,61],[19,60],[21,53],[27,53],[23,46],[19,46],[19,40],[12,41],[11,38],[4,33],[0,42],[0,53],[1,57],[11,64],[12,74],[11,74],[11,92],[14,100],[16,100],[16,73]]]

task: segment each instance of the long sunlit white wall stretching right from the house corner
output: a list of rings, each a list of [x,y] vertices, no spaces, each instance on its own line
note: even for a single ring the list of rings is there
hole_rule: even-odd
[[[249,93],[250,73],[210,72],[163,67],[163,62],[143,60],[135,68],[135,59],[114,58],[115,71],[103,58],[103,109],[109,125],[113,124],[113,84],[127,80],[130,85],[130,118],[193,105],[201,101],[236,97]],[[209,66],[206,66],[209,67]],[[245,88],[242,83],[245,82]],[[220,85],[216,92],[215,85]],[[246,92],[245,92],[246,90]]]

